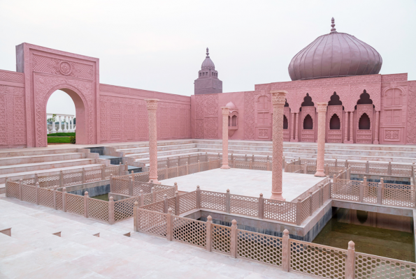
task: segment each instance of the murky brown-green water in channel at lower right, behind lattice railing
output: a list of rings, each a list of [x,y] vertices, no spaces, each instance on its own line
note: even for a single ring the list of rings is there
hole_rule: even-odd
[[[333,207],[333,217],[312,241],[355,251],[415,262],[413,218],[384,213]]]

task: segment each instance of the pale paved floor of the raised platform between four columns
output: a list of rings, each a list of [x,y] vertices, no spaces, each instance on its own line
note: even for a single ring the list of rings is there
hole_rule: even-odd
[[[312,174],[293,174],[283,172],[283,197],[287,202],[299,197],[302,193],[322,181],[324,177]],[[211,169],[185,176],[161,181],[164,185],[178,183],[178,190],[191,192],[199,185],[201,190],[225,193],[227,189],[234,195],[250,197],[271,197],[271,172],[253,169]]]

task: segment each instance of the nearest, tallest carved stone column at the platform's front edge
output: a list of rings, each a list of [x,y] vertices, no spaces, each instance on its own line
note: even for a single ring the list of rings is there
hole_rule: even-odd
[[[282,196],[283,110],[286,91],[270,91],[273,102],[273,165],[271,169],[271,199],[284,201]]]

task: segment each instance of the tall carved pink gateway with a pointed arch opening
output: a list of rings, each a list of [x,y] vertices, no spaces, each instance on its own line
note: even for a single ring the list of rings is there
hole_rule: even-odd
[[[99,126],[99,59],[22,43],[16,47],[17,72],[24,73],[27,146],[46,146],[46,104],[61,89],[76,105],[77,143],[96,144]]]

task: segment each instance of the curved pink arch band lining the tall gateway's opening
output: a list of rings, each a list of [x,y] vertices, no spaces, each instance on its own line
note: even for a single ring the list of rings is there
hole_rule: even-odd
[[[63,85],[64,87],[70,87],[68,85]],[[57,86],[55,86],[56,88]],[[59,86],[58,86],[59,87]],[[78,91],[77,89],[70,89],[70,88],[59,88],[60,91],[64,91],[66,94],[69,95],[69,97],[71,97],[73,104],[75,105],[75,109],[76,109],[76,121],[77,121],[77,126],[76,126],[76,144],[88,144],[88,140],[87,140],[87,124],[85,123],[85,102],[83,100],[83,98],[80,97],[80,93],[77,93],[76,91]],[[71,86],[72,87],[72,86]],[[55,89],[54,88],[54,89]],[[45,96],[45,114],[46,114],[46,106],[48,105],[48,100],[50,99],[50,96],[52,96],[53,93],[56,92],[56,90],[51,89],[50,92],[48,93],[48,95]],[[58,119],[59,120],[59,119]],[[45,140],[46,142],[48,142],[48,140],[46,139],[45,135]]]

